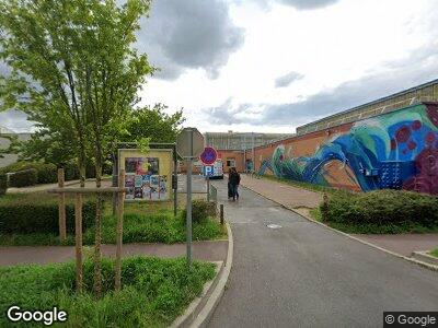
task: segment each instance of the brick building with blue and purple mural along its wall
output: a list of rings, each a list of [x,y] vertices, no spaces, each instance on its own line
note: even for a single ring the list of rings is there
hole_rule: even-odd
[[[301,126],[242,157],[261,175],[438,195],[438,80]]]

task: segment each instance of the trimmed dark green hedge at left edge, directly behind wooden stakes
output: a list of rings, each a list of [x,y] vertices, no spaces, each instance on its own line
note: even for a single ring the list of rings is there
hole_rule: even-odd
[[[83,201],[83,231],[94,224],[95,201]],[[74,199],[66,198],[67,232],[74,232]],[[58,233],[58,198],[45,194],[0,198],[0,233]]]

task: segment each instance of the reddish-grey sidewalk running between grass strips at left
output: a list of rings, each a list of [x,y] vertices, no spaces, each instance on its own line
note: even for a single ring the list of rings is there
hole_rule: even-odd
[[[85,254],[87,248],[84,247]],[[193,258],[208,261],[223,261],[227,258],[228,241],[194,242]],[[90,250],[92,251],[92,250]],[[103,245],[104,256],[114,256],[115,245]],[[185,244],[126,244],[123,255],[148,255],[158,257],[185,256]],[[73,246],[9,246],[0,247],[0,266],[20,263],[62,262],[74,258]]]

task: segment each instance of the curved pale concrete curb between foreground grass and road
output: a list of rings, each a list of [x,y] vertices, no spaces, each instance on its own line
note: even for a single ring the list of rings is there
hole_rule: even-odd
[[[226,225],[228,233],[228,253],[226,263],[220,262],[220,267],[217,267],[218,273],[215,280],[206,283],[201,296],[195,298],[185,313],[172,323],[171,327],[206,327],[209,323],[216,306],[219,304],[219,301],[223,295],[233,260],[233,236],[230,224],[226,222]]]

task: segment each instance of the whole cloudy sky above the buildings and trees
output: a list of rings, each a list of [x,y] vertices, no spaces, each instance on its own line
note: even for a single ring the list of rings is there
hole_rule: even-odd
[[[141,104],[201,132],[293,133],[437,79],[437,19],[436,0],[155,0],[136,47],[160,71]],[[0,125],[32,129],[16,112]]]

